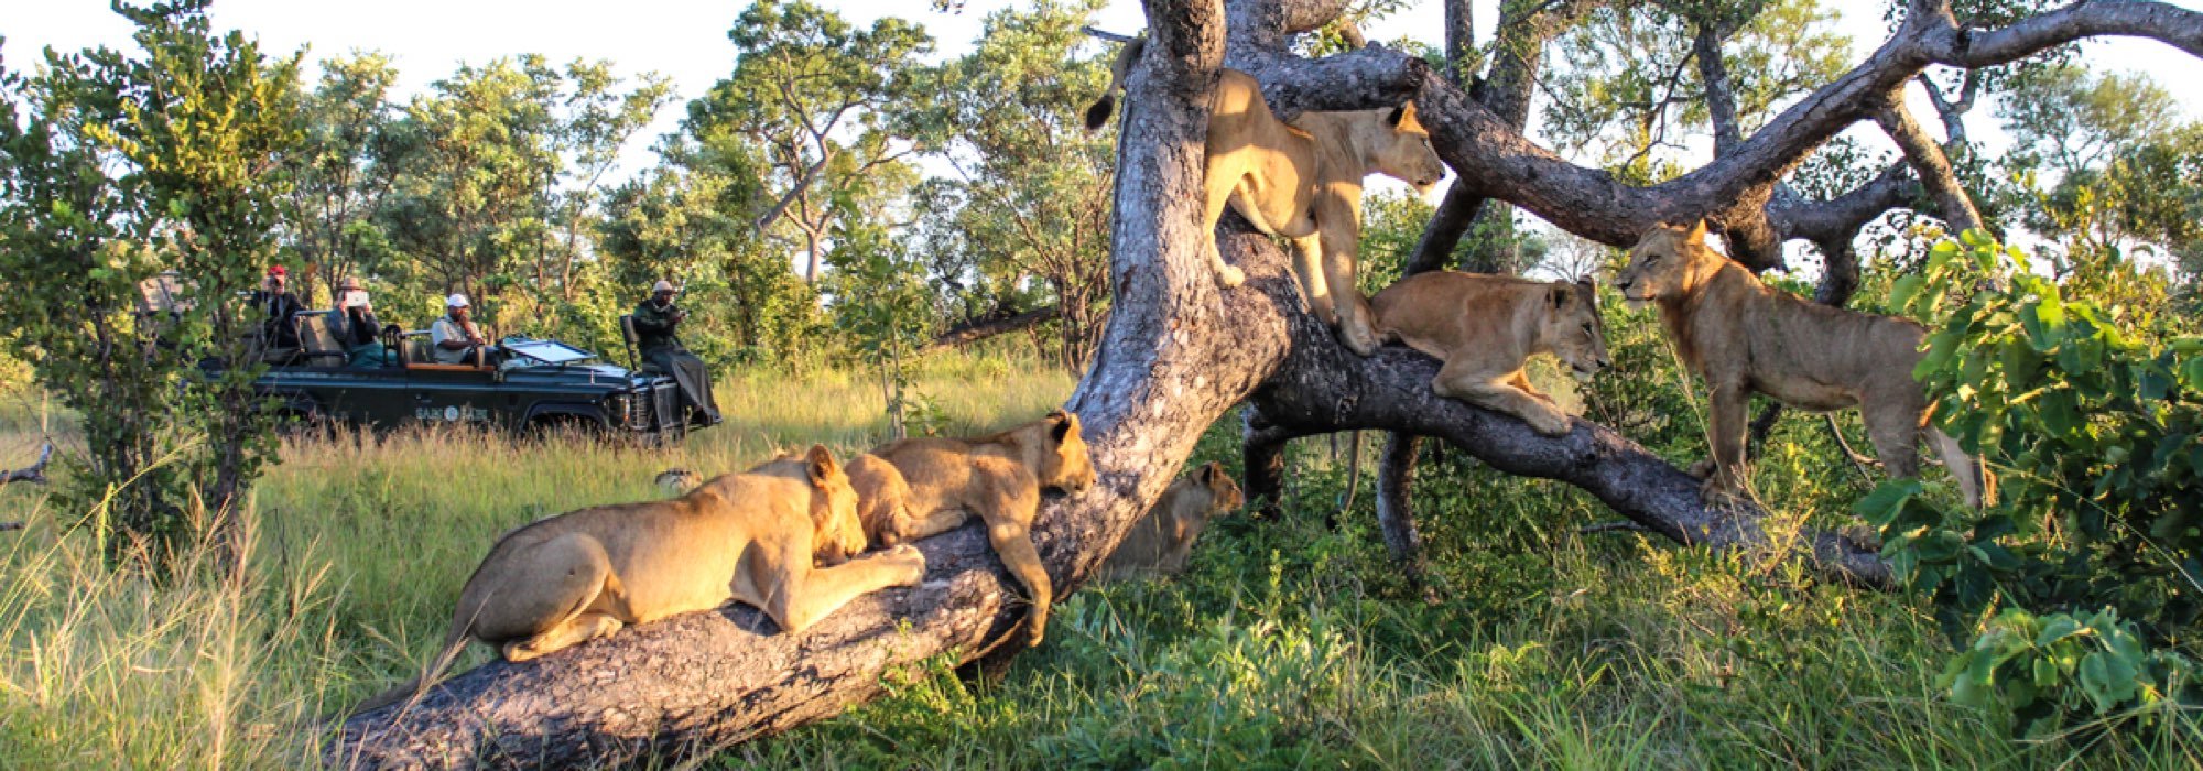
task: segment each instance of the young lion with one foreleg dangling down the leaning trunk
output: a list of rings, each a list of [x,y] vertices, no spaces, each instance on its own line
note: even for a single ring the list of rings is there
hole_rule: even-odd
[[[905,544],[956,529],[969,515],[987,522],[987,542],[1009,573],[1024,584],[1033,612],[1027,617],[1027,641],[1040,645],[1049,626],[1049,604],[1055,584],[1033,549],[1033,518],[1040,515],[1040,493],[1060,489],[1084,491],[1095,482],[1079,416],[1049,416],[1013,430],[976,438],[905,438],[872,449],[892,465],[905,482],[892,487],[886,474],[857,478],[857,496],[868,500],[903,500],[901,524],[879,542]],[[888,487],[881,487],[888,485]],[[890,515],[892,522],[892,515]]]

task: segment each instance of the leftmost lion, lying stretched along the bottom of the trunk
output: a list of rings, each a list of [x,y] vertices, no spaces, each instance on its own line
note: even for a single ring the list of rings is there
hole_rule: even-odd
[[[857,491],[822,445],[674,500],[524,524],[498,537],[467,577],[430,670],[352,712],[419,698],[476,639],[518,663],[729,599],[795,634],[859,595],[925,575],[925,555],[910,546],[813,566],[859,551]]]

